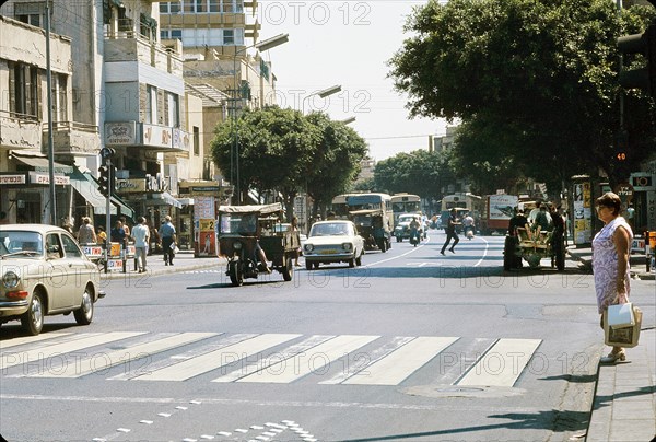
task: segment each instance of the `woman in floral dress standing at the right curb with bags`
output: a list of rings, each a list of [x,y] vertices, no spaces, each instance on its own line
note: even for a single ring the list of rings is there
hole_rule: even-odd
[[[620,217],[620,197],[608,191],[597,198],[597,217],[604,222],[604,228],[593,240],[593,270],[595,274],[595,291],[597,306],[601,314],[604,327],[604,311],[611,304],[629,302],[630,274],[629,253],[633,232],[631,226]],[[602,363],[614,363],[626,359],[622,347],[613,347],[612,351],[600,359]]]

